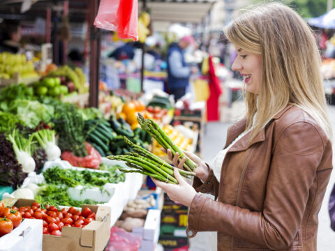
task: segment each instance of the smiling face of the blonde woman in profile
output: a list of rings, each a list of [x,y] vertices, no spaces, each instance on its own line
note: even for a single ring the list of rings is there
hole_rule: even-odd
[[[238,71],[246,84],[246,91],[260,93],[260,83],[262,77],[262,55],[247,52],[235,46],[237,58],[232,63],[232,70]]]

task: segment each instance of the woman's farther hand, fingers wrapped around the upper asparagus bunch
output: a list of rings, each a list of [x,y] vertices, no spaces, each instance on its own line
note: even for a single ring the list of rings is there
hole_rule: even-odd
[[[172,161],[172,164],[174,165],[174,167],[183,169],[183,165],[184,165],[186,158],[182,158],[181,160],[178,160],[179,153],[176,153],[174,156],[172,156],[172,151],[170,149],[166,151],[165,149],[162,148],[161,150],[168,154],[168,158],[169,160]],[[190,153],[188,151],[183,151],[183,152],[185,153],[185,155],[187,155],[188,158],[193,160],[193,162],[195,162],[195,164],[197,165],[197,168],[195,168],[195,170],[193,171],[195,172],[195,175],[198,178],[200,178],[202,181],[205,181],[207,177],[209,176],[209,167],[207,167],[206,163],[193,153]]]

